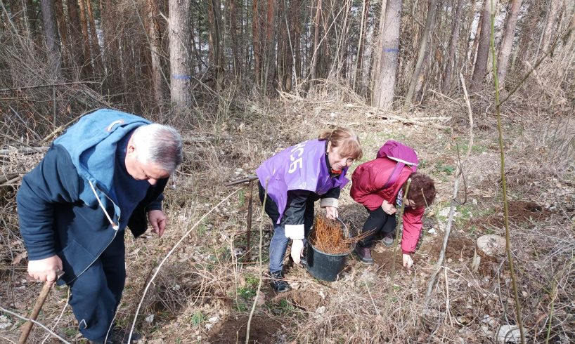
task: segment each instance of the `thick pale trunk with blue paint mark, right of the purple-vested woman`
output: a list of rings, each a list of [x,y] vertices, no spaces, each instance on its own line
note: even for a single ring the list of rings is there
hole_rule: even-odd
[[[392,107],[397,76],[397,58],[399,55],[399,29],[401,26],[401,0],[382,0],[385,5],[385,19],[380,51],[379,71],[373,88],[373,105],[389,110]],[[383,7],[383,6],[382,6]]]

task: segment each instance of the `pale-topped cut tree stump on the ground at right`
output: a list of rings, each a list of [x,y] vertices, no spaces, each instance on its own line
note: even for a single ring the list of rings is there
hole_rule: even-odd
[[[505,238],[495,234],[487,234],[477,238],[475,253],[473,254],[472,270],[481,270],[489,274],[493,264],[500,264],[505,260]]]

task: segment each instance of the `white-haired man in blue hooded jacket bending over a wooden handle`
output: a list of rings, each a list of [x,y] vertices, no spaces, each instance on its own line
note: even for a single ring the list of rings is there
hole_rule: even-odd
[[[163,190],[181,164],[182,140],[170,126],[98,110],[54,140],[18,191],[28,273],[70,286],[79,331],[91,343],[122,343],[113,319],[126,270],[124,230],[162,235]],[[127,336],[126,336],[127,337]],[[132,336],[137,338],[137,336]]]

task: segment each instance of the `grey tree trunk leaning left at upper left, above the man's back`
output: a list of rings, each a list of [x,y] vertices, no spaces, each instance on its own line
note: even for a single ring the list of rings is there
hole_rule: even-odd
[[[42,8],[42,26],[44,27],[44,37],[46,39],[46,47],[48,48],[50,77],[52,79],[60,79],[60,39],[58,37],[58,26],[56,25],[53,5],[52,0],[40,1]]]

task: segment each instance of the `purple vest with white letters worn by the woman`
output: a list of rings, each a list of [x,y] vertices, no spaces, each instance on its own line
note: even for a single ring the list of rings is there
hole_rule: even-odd
[[[276,202],[280,217],[288,202],[289,190],[308,190],[322,195],[334,187],[344,187],[347,167],[340,176],[330,178],[325,162],[325,141],[309,140],[286,148],[264,161],[256,170],[261,186],[266,188],[271,199]]]

